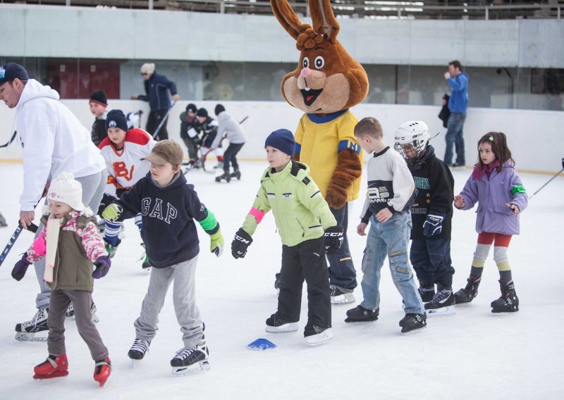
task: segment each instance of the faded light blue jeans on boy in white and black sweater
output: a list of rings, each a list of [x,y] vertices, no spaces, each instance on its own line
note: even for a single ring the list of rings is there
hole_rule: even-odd
[[[362,258],[362,294],[360,304],[369,310],[380,306],[380,270],[388,256],[393,283],[405,303],[405,313],[422,314],[423,303],[417,293],[417,285],[410,262],[407,259],[407,244],[411,233],[411,214],[409,211],[392,215],[385,223],[379,223],[374,215],[370,218],[370,230],[364,258]]]

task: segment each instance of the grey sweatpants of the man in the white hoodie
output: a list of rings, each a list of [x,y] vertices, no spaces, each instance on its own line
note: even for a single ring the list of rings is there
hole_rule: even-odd
[[[108,171],[103,170],[102,172],[95,173],[93,175],[88,175],[85,177],[78,177],[76,180],[82,185],[82,204],[92,208],[94,215],[98,211],[100,201],[102,201],[102,196],[104,195],[104,189],[106,188],[106,180],[108,178]],[[47,204],[47,200],[45,200]],[[39,233],[43,229],[43,224],[39,224],[39,229],[35,234],[35,238],[39,236]],[[47,282],[43,280],[43,274],[45,272],[45,258],[34,263],[35,275],[37,275],[37,282],[39,282],[39,293],[35,299],[35,306],[37,308],[46,308],[49,306],[49,296],[51,294],[51,288],[47,285]]]

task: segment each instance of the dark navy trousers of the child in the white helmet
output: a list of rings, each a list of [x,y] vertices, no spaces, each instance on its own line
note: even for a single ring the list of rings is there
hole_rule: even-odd
[[[450,239],[430,237],[411,242],[410,261],[417,279],[429,285],[453,286],[454,268],[450,261]]]

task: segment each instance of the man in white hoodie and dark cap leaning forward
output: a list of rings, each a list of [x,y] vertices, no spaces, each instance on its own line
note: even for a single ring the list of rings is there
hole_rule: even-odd
[[[27,227],[35,218],[35,206],[49,188],[51,177],[73,173],[82,185],[82,203],[97,210],[106,186],[106,165],[90,132],[71,110],[59,101],[59,93],[29,79],[22,65],[0,65],[0,100],[16,108],[16,130],[23,152],[23,192],[20,222]],[[37,230],[39,235],[41,229]],[[51,289],[43,281],[44,260],[35,263],[40,292],[35,317],[16,325],[20,339],[32,339],[35,332],[48,330],[47,315]]]

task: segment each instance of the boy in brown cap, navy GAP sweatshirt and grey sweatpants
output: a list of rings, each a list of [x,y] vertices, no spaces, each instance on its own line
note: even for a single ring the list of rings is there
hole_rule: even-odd
[[[174,310],[184,343],[171,360],[176,375],[209,369],[204,325],[195,302],[194,280],[200,246],[194,220],[209,235],[212,253],[219,257],[223,251],[219,223],[180,172],[183,158],[180,144],[173,140],[155,144],[151,154],[144,158],[151,163],[147,176],[102,213],[111,222],[142,214],[141,237],[153,266],[141,315],[134,323],[135,341],[128,353],[133,362],[145,356],[157,335],[159,313],[174,281]]]

